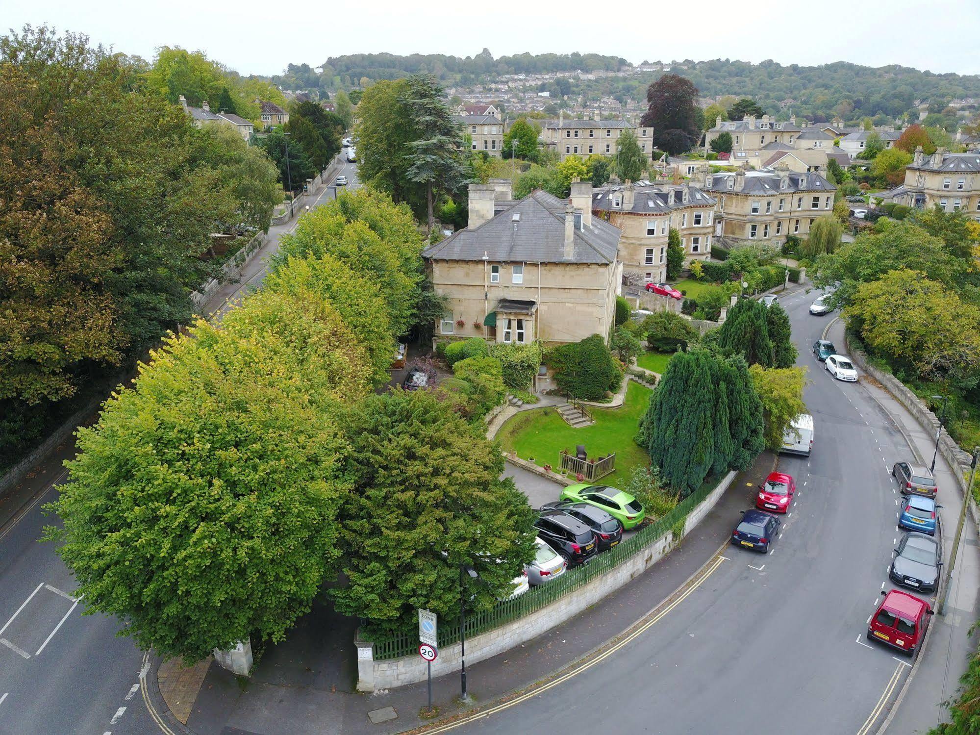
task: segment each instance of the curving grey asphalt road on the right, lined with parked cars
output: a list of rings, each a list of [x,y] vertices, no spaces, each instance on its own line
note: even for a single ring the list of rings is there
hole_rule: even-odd
[[[890,471],[908,449],[860,385],[834,381],[810,356],[829,319],[809,316],[811,300],[798,293],[785,306],[810,368],[814,450],[780,460],[799,492],[773,552],[727,547],[711,576],[628,647],[460,731],[876,731],[910,668],[864,638],[891,588],[900,496]]]

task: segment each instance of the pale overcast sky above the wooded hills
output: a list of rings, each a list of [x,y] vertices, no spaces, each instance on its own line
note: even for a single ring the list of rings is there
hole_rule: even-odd
[[[16,6],[16,7],[15,7]],[[921,22],[921,23],[920,23]],[[980,73],[980,2],[427,3],[372,0],[0,3],[0,28],[52,25],[152,59],[160,46],[204,51],[243,74],[281,73],[357,53],[494,57],[598,53],[643,61],[740,59],[811,66],[849,61]]]

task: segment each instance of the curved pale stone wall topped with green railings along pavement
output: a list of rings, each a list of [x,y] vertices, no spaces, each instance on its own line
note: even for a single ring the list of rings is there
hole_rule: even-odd
[[[734,478],[735,472],[725,475],[711,494],[687,515],[681,538],[708,515]],[[674,539],[673,534],[667,531],[660,540],[641,549],[608,574],[569,592],[551,605],[469,638],[466,640],[467,662],[483,661],[508,651],[581,613],[657,564],[679,541],[680,539]],[[373,644],[360,638],[354,643],[358,649],[358,691],[374,692],[425,680],[425,662],[421,657],[413,655],[376,662],[373,659]],[[432,675],[442,676],[459,670],[460,666],[460,644],[456,643],[439,651],[439,658],[432,662]]]

